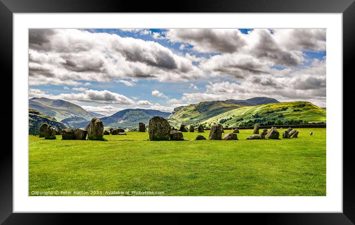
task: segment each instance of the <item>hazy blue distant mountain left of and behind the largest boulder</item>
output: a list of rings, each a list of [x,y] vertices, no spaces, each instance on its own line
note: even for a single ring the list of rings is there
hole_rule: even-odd
[[[171,113],[161,112],[153,109],[124,109],[117,113],[100,118],[105,127],[131,128],[138,127],[139,122],[149,123],[153,116],[167,118]],[[86,127],[90,121],[73,124],[75,127]]]

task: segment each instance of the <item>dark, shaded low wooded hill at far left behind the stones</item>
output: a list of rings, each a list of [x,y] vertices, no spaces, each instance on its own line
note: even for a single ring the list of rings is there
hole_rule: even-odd
[[[52,125],[56,130],[65,129],[66,126],[58,122],[54,117],[48,116],[46,114],[40,113],[37,110],[29,109],[28,110],[28,134],[29,135],[38,135],[38,131],[42,124],[47,123]]]

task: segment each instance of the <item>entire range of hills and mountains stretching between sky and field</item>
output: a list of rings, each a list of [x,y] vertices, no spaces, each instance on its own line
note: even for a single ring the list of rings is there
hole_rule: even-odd
[[[29,108],[41,113],[42,117],[47,115],[46,118],[54,121],[53,123],[60,121],[61,124],[70,128],[84,128],[92,117],[100,118],[105,127],[125,129],[138,127],[140,122],[148,124],[153,116],[167,118],[174,127],[179,127],[181,124],[210,126],[215,123],[234,127],[250,125],[255,122],[272,123],[277,120],[298,121],[301,119],[309,122],[325,122],[326,120],[326,110],[309,102],[279,102],[274,98],[267,97],[204,101],[177,107],[172,113],[152,109],[124,109],[111,116],[88,112],[78,105],[60,99],[31,98],[29,99]],[[30,120],[36,117],[32,114],[37,117],[39,115],[29,112]],[[42,117],[39,121],[43,120]]]

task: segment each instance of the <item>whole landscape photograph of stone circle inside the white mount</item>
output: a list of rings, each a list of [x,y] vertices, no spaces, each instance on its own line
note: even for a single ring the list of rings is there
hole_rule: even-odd
[[[326,196],[326,29],[29,29],[29,196]]]

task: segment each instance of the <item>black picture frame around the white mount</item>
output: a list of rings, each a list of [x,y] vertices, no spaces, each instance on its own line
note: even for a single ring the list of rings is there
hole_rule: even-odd
[[[2,101],[6,110],[0,110],[0,118],[12,118],[12,16],[13,13],[34,12],[273,12],[273,13],[343,13],[343,118],[354,118],[352,107],[345,107],[346,103],[353,102],[352,88],[353,65],[355,58],[355,3],[354,0],[180,0],[171,4],[167,1],[122,1],[122,0],[0,0],[0,68],[3,86],[9,88],[3,92]],[[161,5],[162,7],[158,7]],[[7,80],[6,80],[7,79]],[[7,84],[7,85],[4,85]],[[2,88],[4,90],[4,88]],[[11,106],[11,107],[10,107]],[[15,118],[12,118],[14,120]],[[8,137],[12,132],[12,121],[5,120],[1,129],[1,137]],[[11,124],[10,124],[11,123]],[[11,129],[10,129],[11,128]],[[351,126],[343,126],[344,134],[351,134]],[[14,141],[12,136],[12,141]],[[350,138],[351,139],[351,138]],[[7,140],[8,141],[8,140]],[[8,143],[10,143],[8,141]],[[355,224],[355,166],[351,157],[353,148],[345,148],[350,140],[343,140],[343,213],[271,213],[271,214],[229,214],[224,220],[239,221],[245,218],[248,221],[262,222],[263,224]],[[12,147],[12,146],[11,146]],[[0,223],[3,224],[68,224],[75,220],[98,219],[93,214],[22,214],[12,211],[12,148],[0,148]],[[119,216],[120,220],[122,216]],[[170,215],[169,223],[184,222],[177,215]],[[115,214],[105,215],[99,219],[112,220]],[[131,221],[137,218],[149,220],[150,215],[134,217],[125,215]],[[203,215],[206,220],[210,215]],[[116,219],[114,219],[116,220]],[[200,219],[198,220],[200,221]],[[157,221],[155,221],[157,222]],[[158,221],[159,222],[159,221]],[[189,219],[194,222],[194,219]],[[221,220],[220,220],[221,222]]]

